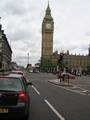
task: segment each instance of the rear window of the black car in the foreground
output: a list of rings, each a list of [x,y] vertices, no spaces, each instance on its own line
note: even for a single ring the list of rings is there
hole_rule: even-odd
[[[21,80],[19,78],[0,78],[0,90],[21,91]]]

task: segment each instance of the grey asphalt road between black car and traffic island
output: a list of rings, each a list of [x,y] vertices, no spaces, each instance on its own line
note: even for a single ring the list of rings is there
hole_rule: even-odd
[[[29,120],[90,120],[90,96],[71,92],[48,80],[56,76],[48,73],[29,73],[30,87]]]

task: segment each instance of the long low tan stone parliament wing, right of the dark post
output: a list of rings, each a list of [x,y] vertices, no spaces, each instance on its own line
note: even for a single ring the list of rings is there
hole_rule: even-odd
[[[63,62],[70,68],[76,70],[87,69],[87,66],[90,65],[90,51],[88,55],[70,55],[65,53],[63,56]]]

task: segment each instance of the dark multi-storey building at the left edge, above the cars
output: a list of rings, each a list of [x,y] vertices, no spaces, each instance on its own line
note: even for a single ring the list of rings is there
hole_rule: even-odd
[[[11,68],[12,50],[0,24],[0,70]]]

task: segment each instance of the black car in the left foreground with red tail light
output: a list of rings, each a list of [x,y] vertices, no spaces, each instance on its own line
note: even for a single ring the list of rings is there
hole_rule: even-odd
[[[28,119],[29,84],[22,75],[0,76],[0,117]]]

